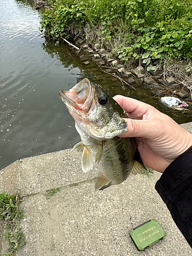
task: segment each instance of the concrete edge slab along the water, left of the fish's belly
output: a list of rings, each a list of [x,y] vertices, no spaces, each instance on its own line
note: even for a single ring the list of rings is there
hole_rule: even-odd
[[[70,151],[64,150],[20,160],[22,162],[16,165],[20,196],[94,178],[95,170],[87,174],[82,172],[81,154]]]

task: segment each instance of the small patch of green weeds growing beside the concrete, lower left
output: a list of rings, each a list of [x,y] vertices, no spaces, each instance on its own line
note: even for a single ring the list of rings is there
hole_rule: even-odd
[[[0,194],[0,218],[7,221],[4,238],[9,242],[8,253],[14,256],[18,246],[25,244],[25,237],[21,230],[20,219],[24,218],[24,212],[19,209],[19,195],[9,195],[7,192]]]

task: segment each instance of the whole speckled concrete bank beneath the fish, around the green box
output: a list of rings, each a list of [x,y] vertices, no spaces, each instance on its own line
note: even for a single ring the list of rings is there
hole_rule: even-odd
[[[192,122],[183,124],[192,133]],[[192,249],[175,225],[155,190],[160,173],[153,177],[131,175],[117,186],[94,193],[98,171],[84,174],[80,154],[64,150],[16,161],[1,170],[0,193],[20,193],[26,218],[22,227],[26,244],[17,256],[122,256],[192,255]],[[46,190],[60,191],[46,198]],[[166,237],[138,251],[129,232],[157,219]],[[0,222],[0,254],[6,253]]]

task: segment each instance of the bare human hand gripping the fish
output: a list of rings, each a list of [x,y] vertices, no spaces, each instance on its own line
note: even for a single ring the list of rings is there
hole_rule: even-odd
[[[114,99],[129,115],[127,132],[118,137],[139,137],[138,150],[143,163],[160,173],[192,145],[192,134],[153,106],[116,95]],[[135,117],[139,119],[130,119]]]

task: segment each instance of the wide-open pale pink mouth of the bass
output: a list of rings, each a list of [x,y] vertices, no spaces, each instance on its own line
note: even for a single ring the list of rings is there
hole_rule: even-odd
[[[84,78],[69,91],[61,90],[59,97],[70,110],[88,112],[93,100],[95,88],[88,78]]]

